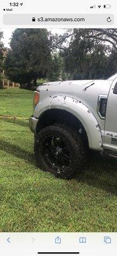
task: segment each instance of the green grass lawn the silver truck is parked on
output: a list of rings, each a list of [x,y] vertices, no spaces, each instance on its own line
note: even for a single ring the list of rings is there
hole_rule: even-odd
[[[0,90],[0,115],[29,118],[32,92]],[[117,232],[117,161],[94,157],[78,179],[36,167],[26,120],[0,119],[0,232]]]

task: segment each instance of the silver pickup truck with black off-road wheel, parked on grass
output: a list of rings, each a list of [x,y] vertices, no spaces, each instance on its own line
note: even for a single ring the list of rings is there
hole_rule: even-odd
[[[44,83],[34,92],[30,128],[41,170],[71,179],[90,150],[117,156],[117,74],[105,80]]]

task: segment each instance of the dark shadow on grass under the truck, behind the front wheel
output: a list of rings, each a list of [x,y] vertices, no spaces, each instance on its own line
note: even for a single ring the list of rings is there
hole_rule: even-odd
[[[86,164],[77,180],[117,195],[117,160],[98,153],[92,154],[90,163]]]

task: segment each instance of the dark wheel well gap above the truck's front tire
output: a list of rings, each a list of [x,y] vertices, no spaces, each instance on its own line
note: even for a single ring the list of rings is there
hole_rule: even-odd
[[[76,116],[72,115],[63,109],[48,109],[41,116],[39,116],[39,121],[36,127],[36,133],[45,128],[48,125],[52,124],[66,124],[71,125],[76,129],[81,129],[81,134],[83,134],[83,138],[85,138],[86,143],[88,144],[88,137],[85,131],[85,128],[81,124],[81,122],[76,118]]]

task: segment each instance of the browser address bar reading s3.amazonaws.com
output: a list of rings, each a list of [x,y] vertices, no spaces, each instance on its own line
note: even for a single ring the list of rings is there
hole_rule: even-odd
[[[4,25],[112,25],[113,14],[4,14]]]

